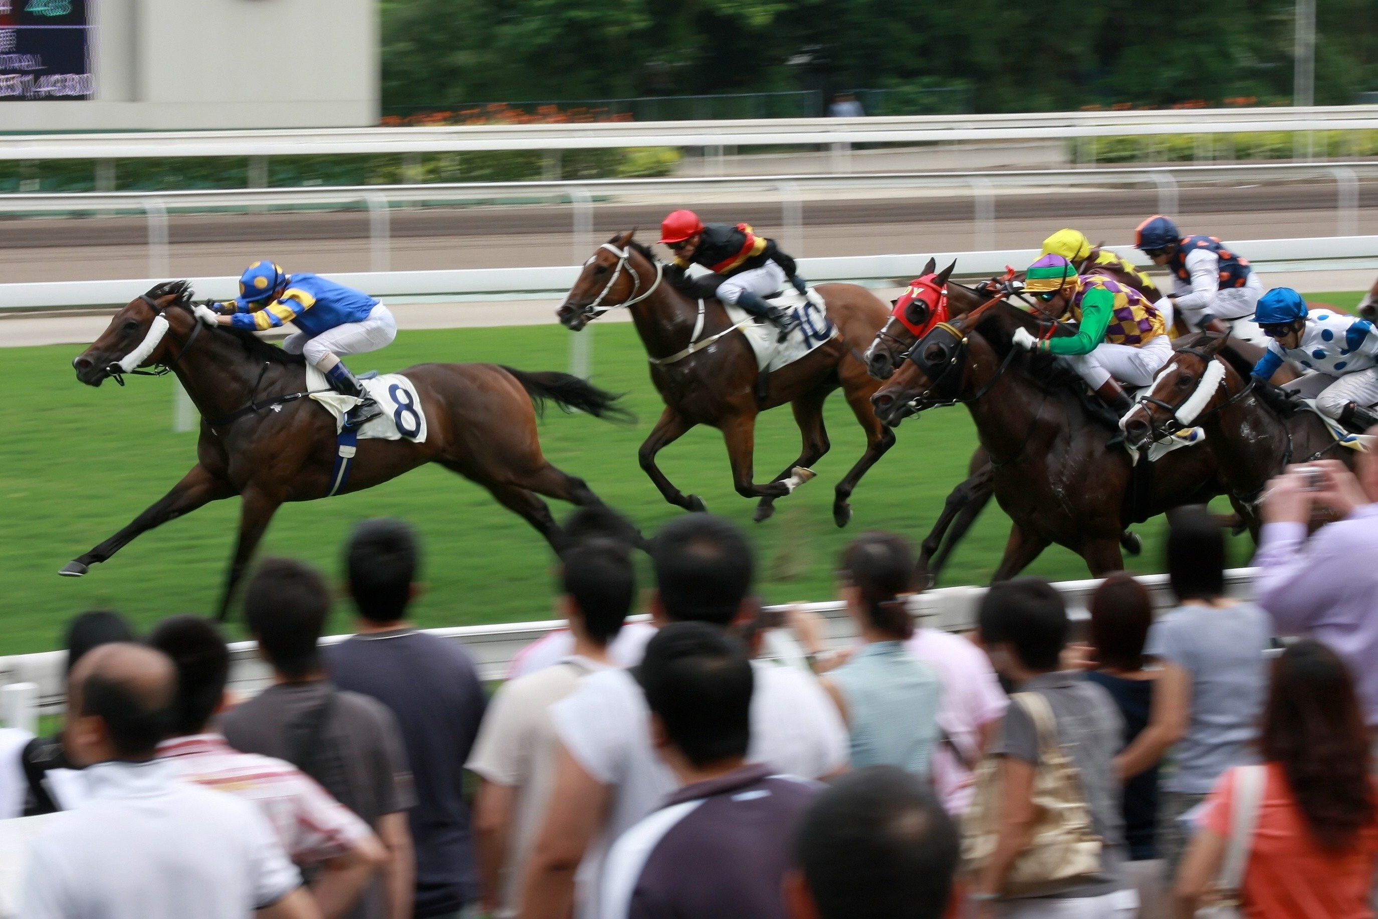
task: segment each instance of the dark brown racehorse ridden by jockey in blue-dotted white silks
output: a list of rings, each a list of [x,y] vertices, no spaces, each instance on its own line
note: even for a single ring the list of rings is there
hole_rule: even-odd
[[[1221,485],[1257,543],[1258,502],[1268,479],[1291,463],[1326,456],[1339,441],[1315,412],[1262,397],[1248,375],[1251,365],[1229,354],[1228,340],[1228,333],[1197,332],[1174,342],[1173,360],[1158,372],[1152,391],[1120,423],[1138,449],[1188,424],[1203,427]],[[1355,451],[1335,455],[1353,466]]]

